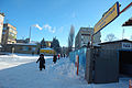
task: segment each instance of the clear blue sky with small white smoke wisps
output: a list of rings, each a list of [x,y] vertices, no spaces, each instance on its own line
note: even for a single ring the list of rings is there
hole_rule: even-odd
[[[94,28],[102,14],[111,8],[117,0],[0,0],[0,12],[6,14],[8,22],[16,28],[18,40],[28,38],[31,28],[31,41],[52,41],[56,37],[61,46],[67,46],[70,25],[75,26],[75,36],[81,26]],[[119,0],[120,10],[131,0]],[[120,14],[113,22],[102,29],[101,42],[110,33],[118,40],[130,40],[132,26],[121,25],[132,18],[132,7]]]

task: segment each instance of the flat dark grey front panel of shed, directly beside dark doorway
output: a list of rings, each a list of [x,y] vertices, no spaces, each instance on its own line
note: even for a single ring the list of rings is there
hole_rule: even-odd
[[[116,82],[119,80],[118,53],[114,50],[99,50],[95,62],[94,82]]]

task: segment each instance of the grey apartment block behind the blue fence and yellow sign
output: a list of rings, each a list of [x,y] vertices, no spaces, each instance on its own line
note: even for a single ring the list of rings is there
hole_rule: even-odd
[[[75,37],[75,48],[78,50],[82,46],[87,46],[91,41],[91,35],[94,34],[94,28],[80,28],[79,32]],[[100,32],[94,36],[94,44],[99,44],[101,34]]]

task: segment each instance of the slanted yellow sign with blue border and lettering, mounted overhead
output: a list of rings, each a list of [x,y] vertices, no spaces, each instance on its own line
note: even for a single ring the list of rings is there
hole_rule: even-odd
[[[113,7],[111,7],[99,20],[99,22],[94,26],[94,33],[96,34],[101,29],[107,26],[110,22],[112,22],[119,15],[119,2],[116,2]]]

